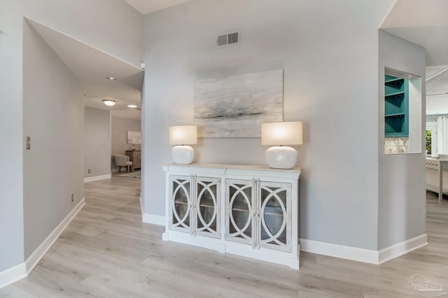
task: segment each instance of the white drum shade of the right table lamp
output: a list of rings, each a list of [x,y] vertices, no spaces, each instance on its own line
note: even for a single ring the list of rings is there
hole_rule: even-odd
[[[302,121],[261,124],[262,145],[303,144]]]

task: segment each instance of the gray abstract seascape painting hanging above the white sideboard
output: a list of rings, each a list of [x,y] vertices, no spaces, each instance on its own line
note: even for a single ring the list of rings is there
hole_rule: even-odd
[[[198,137],[260,137],[263,123],[283,121],[283,70],[195,82]]]

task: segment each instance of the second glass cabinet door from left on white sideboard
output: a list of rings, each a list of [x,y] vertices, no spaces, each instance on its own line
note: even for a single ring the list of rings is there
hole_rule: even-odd
[[[220,182],[221,179],[196,178],[196,234],[215,238],[220,237]]]

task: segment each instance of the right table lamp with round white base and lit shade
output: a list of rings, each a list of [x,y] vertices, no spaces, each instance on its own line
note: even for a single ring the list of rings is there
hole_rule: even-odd
[[[267,149],[267,165],[274,169],[291,169],[299,160],[297,151],[283,145],[303,144],[302,121],[261,124],[261,144],[274,145]]]

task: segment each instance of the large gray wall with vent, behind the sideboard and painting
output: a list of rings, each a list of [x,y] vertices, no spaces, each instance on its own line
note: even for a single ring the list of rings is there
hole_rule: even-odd
[[[216,34],[241,29],[241,45]],[[278,65],[284,120],[304,121],[297,146],[300,237],[377,249],[378,31],[376,1],[195,0],[145,17],[144,201],[165,215],[168,126],[193,124],[204,70]],[[265,164],[259,138],[200,139],[201,163]]]

